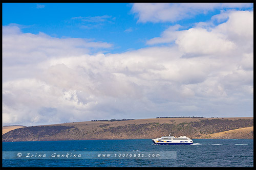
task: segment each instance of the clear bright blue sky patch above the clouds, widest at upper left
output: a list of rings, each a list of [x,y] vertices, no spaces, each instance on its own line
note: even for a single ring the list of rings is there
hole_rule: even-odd
[[[169,26],[179,24],[183,26],[181,29],[189,29],[195,23],[208,21],[211,16],[220,13],[217,8],[182,20],[141,23],[136,13],[132,12],[132,6],[126,3],[3,4],[3,26],[15,23],[24,33],[43,32],[58,38],[109,42],[114,45],[111,52],[120,53],[148,46],[146,40],[159,36]],[[230,8],[221,10],[226,9]]]

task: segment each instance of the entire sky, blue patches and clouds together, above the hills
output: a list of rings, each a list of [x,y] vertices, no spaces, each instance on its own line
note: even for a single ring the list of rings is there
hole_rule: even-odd
[[[3,125],[253,116],[251,3],[3,3]]]

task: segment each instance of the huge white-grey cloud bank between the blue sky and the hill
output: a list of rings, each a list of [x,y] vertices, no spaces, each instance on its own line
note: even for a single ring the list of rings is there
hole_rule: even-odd
[[[161,11],[162,6],[145,9]],[[215,7],[199,10],[209,8]],[[141,22],[148,20],[143,15]],[[92,53],[111,48],[107,42],[54,38],[4,26],[3,125],[252,116],[253,11],[221,15],[211,21],[228,19],[214,27],[210,22],[181,31],[172,26],[148,40],[151,47],[120,54]],[[151,21],[175,20],[164,16],[159,13]]]

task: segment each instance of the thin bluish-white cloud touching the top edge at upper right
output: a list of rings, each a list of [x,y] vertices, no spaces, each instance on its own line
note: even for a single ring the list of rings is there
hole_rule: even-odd
[[[135,3],[132,12],[138,17],[138,22],[175,22],[185,18],[207,13],[215,9],[252,8],[249,3]]]

